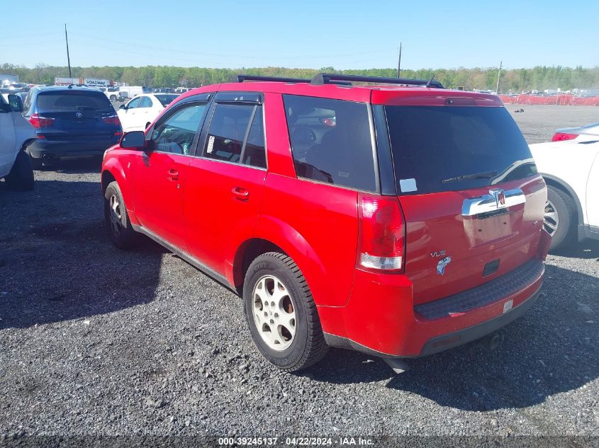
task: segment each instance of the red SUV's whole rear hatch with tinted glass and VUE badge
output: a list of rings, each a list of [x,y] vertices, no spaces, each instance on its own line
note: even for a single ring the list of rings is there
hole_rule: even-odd
[[[415,304],[477,287],[534,258],[547,196],[500,103],[441,100],[385,106]]]

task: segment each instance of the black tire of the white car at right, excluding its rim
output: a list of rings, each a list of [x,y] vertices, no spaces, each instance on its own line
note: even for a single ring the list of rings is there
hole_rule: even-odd
[[[573,246],[576,237],[576,205],[573,199],[564,193],[564,191],[555,188],[552,185],[547,186],[547,200],[549,201],[545,207],[547,213],[548,207],[553,205],[559,218],[557,229],[552,235],[552,243],[549,246],[549,251],[556,251]],[[548,226],[547,216],[545,218],[544,227],[546,230],[551,228]],[[551,233],[551,232],[549,232]]]

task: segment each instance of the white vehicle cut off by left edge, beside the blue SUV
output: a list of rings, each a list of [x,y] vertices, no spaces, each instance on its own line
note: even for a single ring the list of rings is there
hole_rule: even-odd
[[[22,111],[21,98],[9,95],[6,102],[0,95],[0,178],[13,190],[32,190],[33,168],[25,149],[35,132]]]

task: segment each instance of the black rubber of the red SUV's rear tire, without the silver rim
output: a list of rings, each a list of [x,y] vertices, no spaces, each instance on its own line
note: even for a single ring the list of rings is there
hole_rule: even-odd
[[[274,275],[284,283],[296,311],[295,335],[291,345],[282,351],[273,350],[264,342],[254,320],[254,287],[265,275]],[[308,283],[287,255],[269,252],[252,261],[243,282],[243,304],[254,344],[262,356],[279,369],[286,372],[305,369],[320,361],[328,351]]]

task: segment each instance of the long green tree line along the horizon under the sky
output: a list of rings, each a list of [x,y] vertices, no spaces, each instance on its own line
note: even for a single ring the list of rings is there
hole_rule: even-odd
[[[354,69],[335,70],[333,67],[315,69],[288,69],[284,67],[264,67],[247,69],[210,69],[203,67],[72,67],[74,78],[113,79],[131,86],[147,87],[191,87],[206,84],[218,84],[236,80],[237,74],[256,74],[262,76],[286,76],[293,78],[311,78],[319,72],[362,74],[368,76],[396,77],[396,69]],[[55,77],[69,76],[67,67],[55,67],[38,64],[33,69],[1,64],[1,74],[18,75],[21,82],[31,84],[54,84]],[[448,88],[463,86],[466,90],[474,88],[495,90],[497,67],[465,69],[419,69],[402,70],[402,78],[430,79]],[[547,88],[599,88],[599,67],[534,67],[532,69],[502,70],[500,92],[543,91]]]

